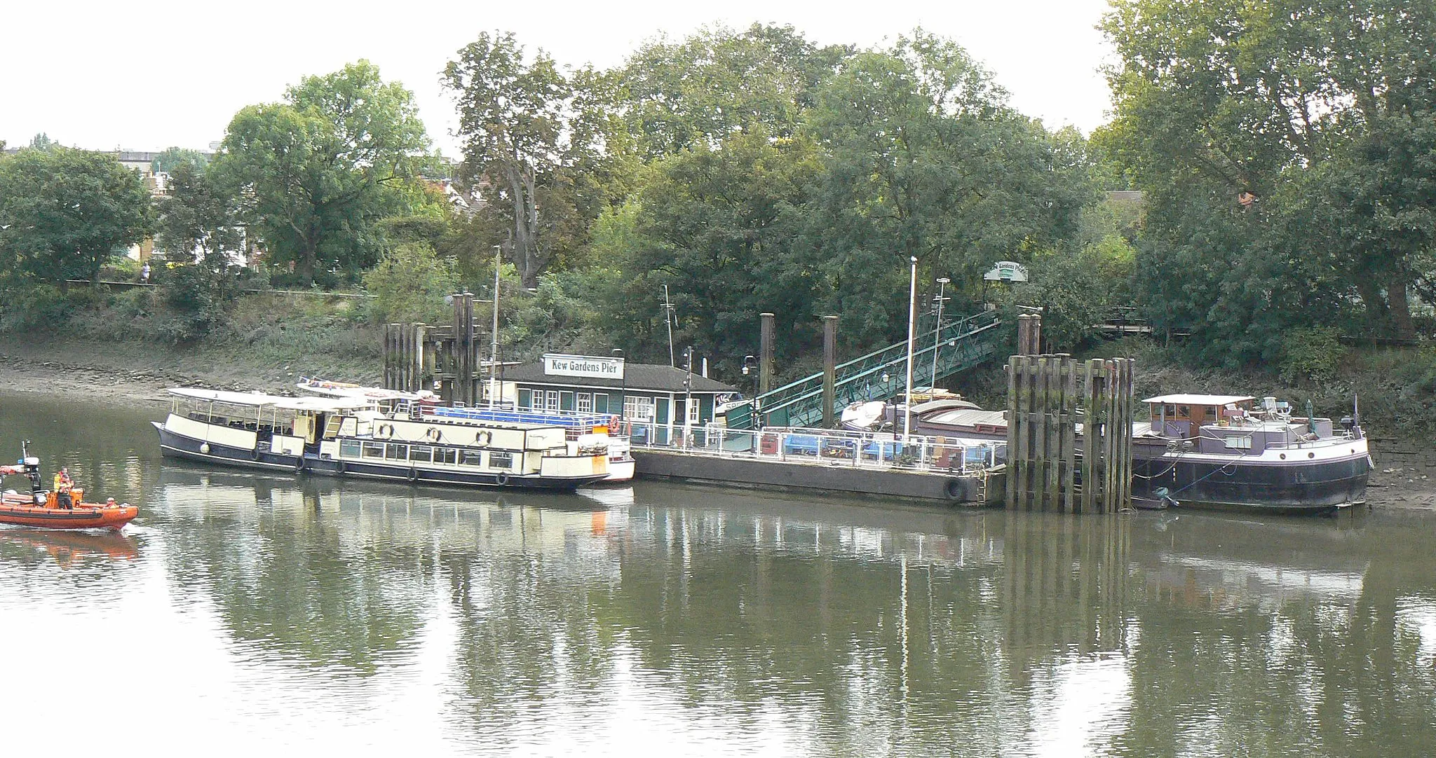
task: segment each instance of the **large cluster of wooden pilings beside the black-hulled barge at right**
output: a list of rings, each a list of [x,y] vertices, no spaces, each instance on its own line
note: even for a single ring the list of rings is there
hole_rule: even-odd
[[[1008,359],[1007,372],[1007,507],[1130,507],[1133,362],[1018,355]]]

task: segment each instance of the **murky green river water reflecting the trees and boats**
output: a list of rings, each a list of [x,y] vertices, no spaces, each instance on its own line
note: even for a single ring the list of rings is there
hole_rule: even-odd
[[[164,462],[162,415],[0,395],[0,445],[141,505],[0,530],[7,745],[1436,754],[1432,515],[495,497]]]

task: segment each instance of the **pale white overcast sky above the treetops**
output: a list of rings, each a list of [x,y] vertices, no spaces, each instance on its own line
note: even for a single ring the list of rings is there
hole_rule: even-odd
[[[883,45],[922,27],[994,72],[1021,112],[1090,132],[1110,99],[1094,26],[1107,0],[811,0],[491,3],[488,0],[111,0],[14,3],[0,10],[0,139],[39,132],[88,149],[204,149],[240,108],[366,57],[415,95],[429,136],[457,156],[444,63],[480,32],[514,32],[559,63],[610,67],[645,40],[702,26],[793,24],[819,45]]]

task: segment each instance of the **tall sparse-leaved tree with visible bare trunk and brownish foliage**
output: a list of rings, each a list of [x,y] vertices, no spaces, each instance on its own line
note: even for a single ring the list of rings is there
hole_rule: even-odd
[[[586,243],[587,227],[622,197],[626,132],[612,115],[612,76],[559,70],[543,50],[526,60],[511,33],[480,34],[444,69],[458,98],[462,179],[490,218],[477,244],[504,244],[524,287]],[[485,244],[487,243],[487,244]]]

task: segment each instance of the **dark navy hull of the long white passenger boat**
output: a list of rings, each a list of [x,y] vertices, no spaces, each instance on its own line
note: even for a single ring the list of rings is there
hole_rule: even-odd
[[[434,471],[402,468],[383,464],[356,461],[333,461],[317,455],[280,455],[276,452],[231,448],[177,435],[164,424],[151,422],[159,432],[159,452],[165,458],[180,458],[201,464],[231,468],[251,468],[276,474],[320,474],[325,477],[353,477],[360,479],[385,479],[409,484],[438,484],[447,487],[487,487],[494,490],[549,490],[573,491],[583,485],[599,482],[607,474],[592,477],[520,477],[474,471]]]

